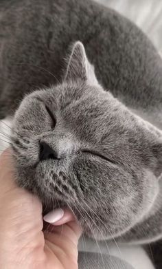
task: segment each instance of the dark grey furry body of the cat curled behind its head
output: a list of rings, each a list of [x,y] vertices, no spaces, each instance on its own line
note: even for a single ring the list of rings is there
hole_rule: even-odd
[[[69,45],[80,40],[105,89],[162,128],[161,59],[134,24],[91,1],[0,5],[1,118],[27,92],[60,81]]]

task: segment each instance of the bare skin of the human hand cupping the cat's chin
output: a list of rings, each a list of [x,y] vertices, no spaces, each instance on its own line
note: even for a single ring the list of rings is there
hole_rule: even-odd
[[[65,211],[55,226],[48,225],[52,232],[43,231],[38,197],[14,183],[11,149],[0,156],[0,184],[0,268],[78,268],[80,227]]]

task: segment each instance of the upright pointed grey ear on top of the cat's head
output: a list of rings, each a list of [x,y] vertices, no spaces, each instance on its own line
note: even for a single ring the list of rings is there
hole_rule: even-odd
[[[74,43],[69,57],[65,80],[75,81],[79,79],[87,81],[92,85],[98,85],[94,67],[86,57],[84,45],[80,41],[77,41]]]

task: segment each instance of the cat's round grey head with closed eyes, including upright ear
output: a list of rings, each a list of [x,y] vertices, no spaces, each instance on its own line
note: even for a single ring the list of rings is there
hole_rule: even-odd
[[[19,185],[46,212],[71,208],[90,237],[126,232],[157,196],[161,140],[97,83],[80,42],[62,84],[24,98],[12,136]]]

